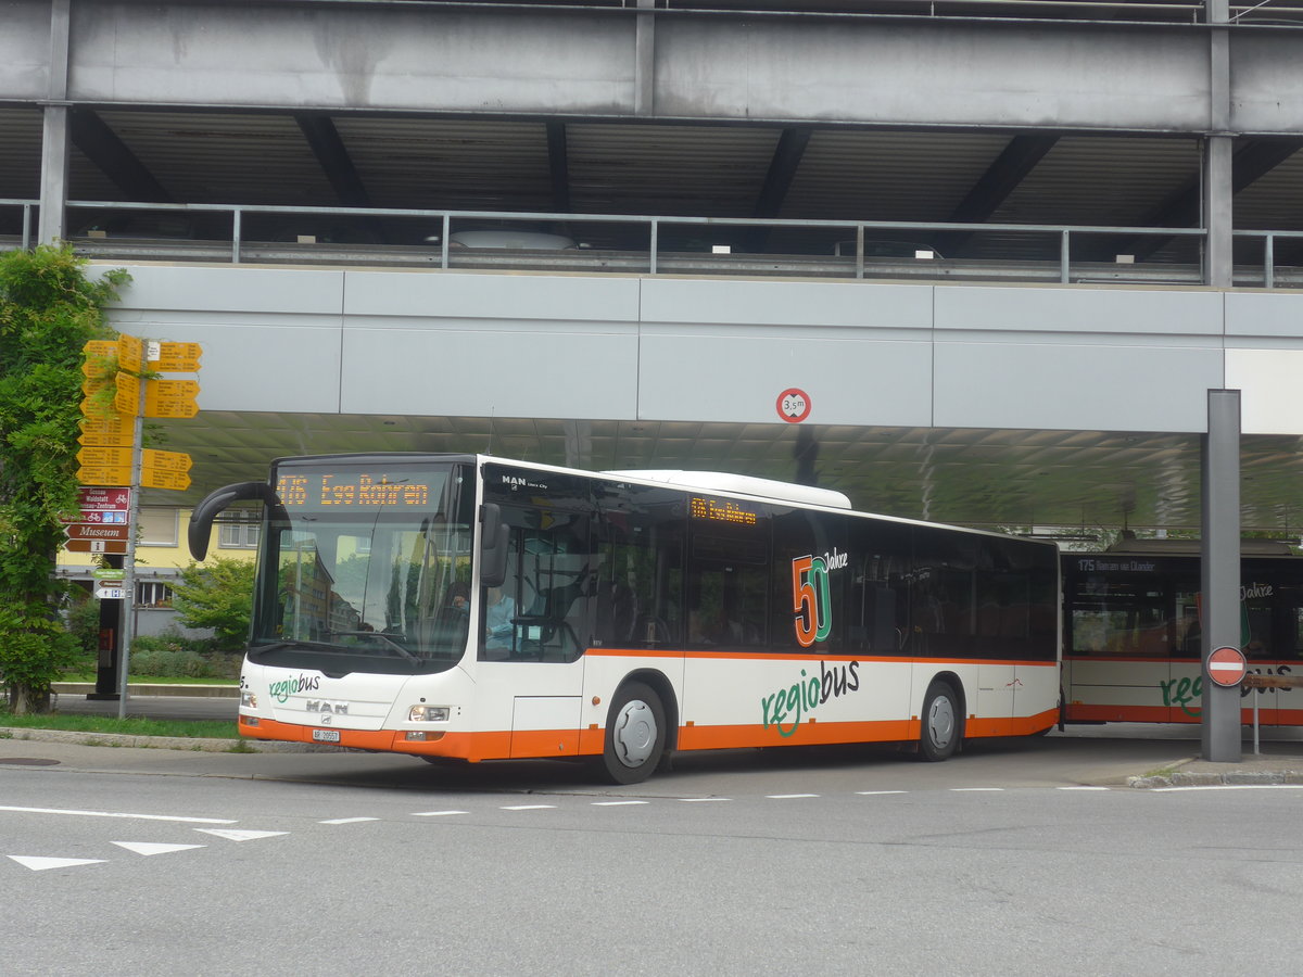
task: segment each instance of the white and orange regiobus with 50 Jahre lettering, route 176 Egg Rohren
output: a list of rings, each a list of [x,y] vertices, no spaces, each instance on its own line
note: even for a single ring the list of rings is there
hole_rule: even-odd
[[[1058,722],[1050,543],[855,513],[827,490],[477,455],[283,459],[240,732],[427,759],[966,737]]]

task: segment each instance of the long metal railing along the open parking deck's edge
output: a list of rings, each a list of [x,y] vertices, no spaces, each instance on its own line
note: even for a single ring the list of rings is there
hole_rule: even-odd
[[[104,261],[1059,284],[1203,284],[1203,228],[69,201]],[[0,248],[39,202],[0,198]],[[1237,231],[1234,284],[1303,288],[1303,231]]]

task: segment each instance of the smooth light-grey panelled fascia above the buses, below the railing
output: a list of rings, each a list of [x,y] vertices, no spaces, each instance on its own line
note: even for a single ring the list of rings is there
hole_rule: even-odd
[[[125,332],[203,344],[205,410],[1303,434],[1303,294],[130,267]]]

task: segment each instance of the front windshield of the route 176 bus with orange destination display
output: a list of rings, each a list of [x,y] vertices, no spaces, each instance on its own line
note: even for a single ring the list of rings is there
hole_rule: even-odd
[[[418,673],[465,653],[474,481],[461,465],[305,459],[274,472],[249,655]]]

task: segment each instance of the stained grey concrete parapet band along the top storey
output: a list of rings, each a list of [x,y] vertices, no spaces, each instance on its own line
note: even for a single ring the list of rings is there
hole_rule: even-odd
[[[0,102],[47,95],[50,0],[0,0]],[[72,0],[69,99],[1209,132],[1201,25]],[[1303,33],[1230,27],[1231,129],[1303,133]],[[644,47],[644,51],[646,48]]]

